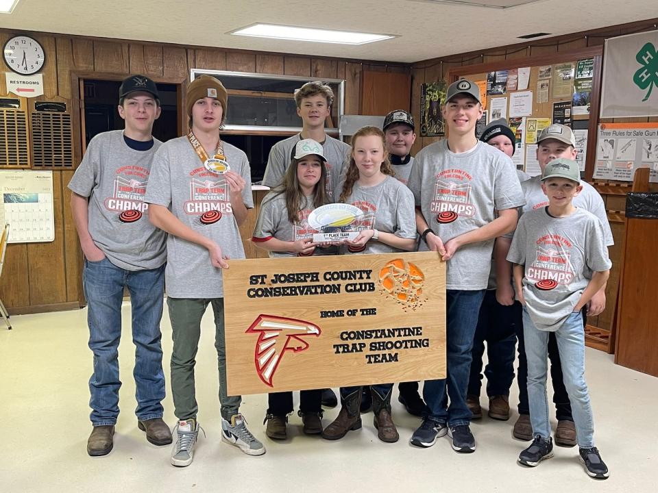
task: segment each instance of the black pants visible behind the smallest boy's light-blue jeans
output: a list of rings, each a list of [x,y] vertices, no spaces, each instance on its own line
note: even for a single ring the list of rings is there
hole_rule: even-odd
[[[523,324],[517,326],[516,337],[519,340],[519,366],[517,381],[519,383],[519,414],[530,414],[528,404],[528,360],[523,336]],[[564,386],[560,353],[557,349],[555,332],[548,335],[548,359],[550,360],[550,380],[553,384],[553,403],[557,420],[573,421],[569,394]]]

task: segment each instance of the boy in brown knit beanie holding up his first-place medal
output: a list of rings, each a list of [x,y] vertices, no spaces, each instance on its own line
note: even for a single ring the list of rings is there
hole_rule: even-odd
[[[194,366],[201,320],[215,315],[221,439],[248,455],[265,447],[249,433],[239,413],[240,396],[228,396],[221,269],[244,258],[239,225],[253,207],[251,173],[243,151],[222,142],[227,93],[215,77],[202,75],[188,87],[187,136],[169,140],[154,158],[145,201],[151,222],[167,231],[167,307],[173,335],[171,393],[178,418],[171,464],[188,466],[199,432]]]

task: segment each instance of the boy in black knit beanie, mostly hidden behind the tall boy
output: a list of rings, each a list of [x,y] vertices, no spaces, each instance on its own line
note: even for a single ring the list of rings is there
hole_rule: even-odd
[[[485,127],[480,140],[496,147],[509,157],[514,155],[516,136],[503,118],[494,120]],[[516,170],[519,181],[530,178]],[[521,304],[514,299],[512,268],[507,262],[510,238],[500,236],[493,244],[491,272],[485,299],[480,307],[478,326],[473,340],[471,372],[468,380],[466,403],[473,419],[482,417],[480,388],[482,386],[482,357],[487,342],[487,396],[489,418],[509,419],[509,389],[514,381],[514,349],[517,327],[522,327]]]

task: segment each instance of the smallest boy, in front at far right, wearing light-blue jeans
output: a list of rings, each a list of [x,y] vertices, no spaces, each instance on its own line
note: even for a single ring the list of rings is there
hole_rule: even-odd
[[[548,206],[522,216],[507,255],[514,264],[515,290],[523,305],[528,401],[535,437],[519,462],[532,467],[552,456],[546,373],[548,335],[554,332],[580,458],[588,475],[605,479],[608,469],[594,446],[581,309],[605,286],[611,262],[600,220],[572,203],[583,190],[578,164],[563,157],[553,160],[544,168],[541,181]]]

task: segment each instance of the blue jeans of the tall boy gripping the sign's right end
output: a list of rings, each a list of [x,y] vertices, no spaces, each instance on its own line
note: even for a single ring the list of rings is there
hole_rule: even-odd
[[[423,399],[427,419],[468,425],[472,414],[466,405],[466,388],[471,368],[471,349],[485,290],[446,292],[446,366],[448,378],[426,380]],[[448,397],[450,405],[448,406]]]

